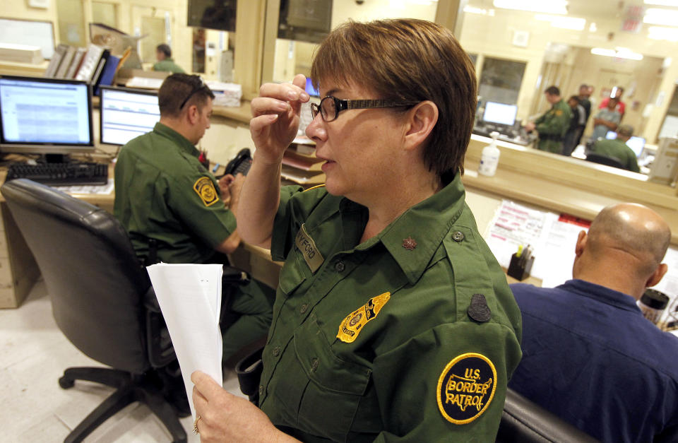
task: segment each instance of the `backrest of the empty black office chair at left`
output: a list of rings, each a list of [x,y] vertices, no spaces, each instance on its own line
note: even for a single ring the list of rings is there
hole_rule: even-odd
[[[59,329],[95,360],[147,370],[143,295],[150,282],[118,220],[28,179],[0,191],[40,267]]]

